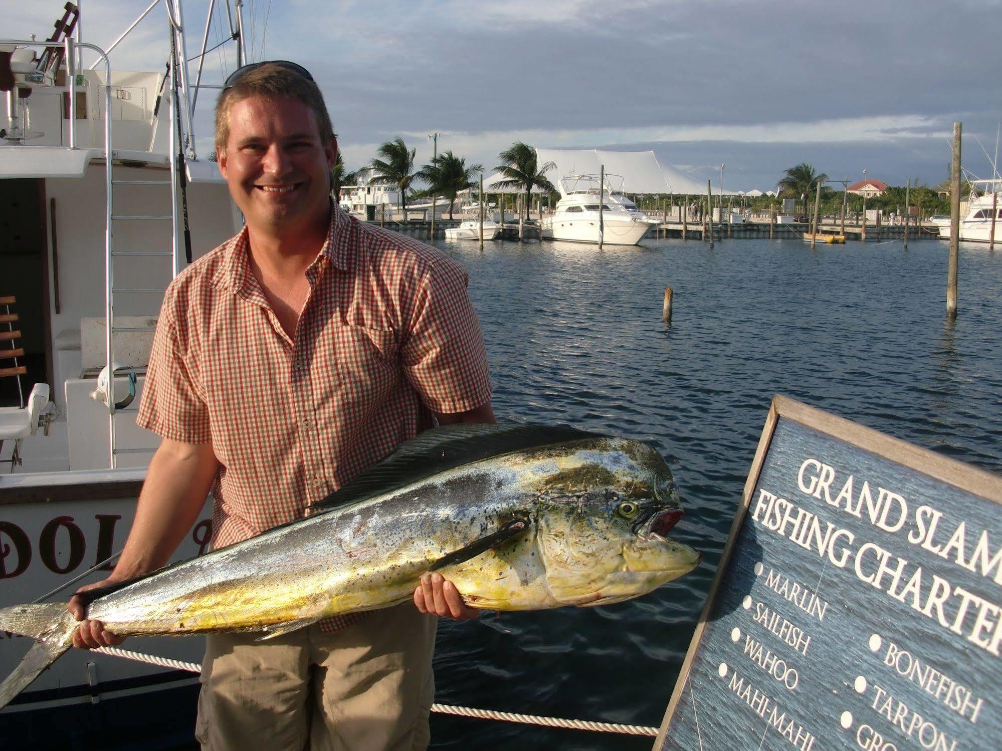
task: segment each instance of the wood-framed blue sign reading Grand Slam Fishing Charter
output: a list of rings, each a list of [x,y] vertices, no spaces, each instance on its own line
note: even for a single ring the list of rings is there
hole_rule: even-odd
[[[777,397],[655,751],[1002,748],[1000,504]]]

